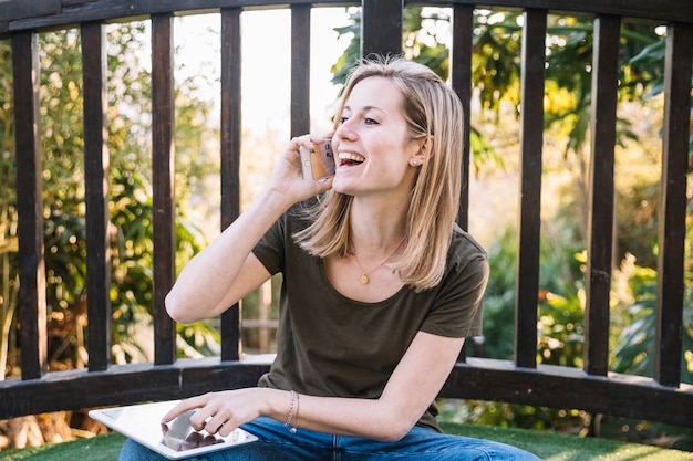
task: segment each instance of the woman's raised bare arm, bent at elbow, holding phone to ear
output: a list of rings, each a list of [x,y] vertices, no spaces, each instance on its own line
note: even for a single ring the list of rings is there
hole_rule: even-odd
[[[180,272],[166,296],[172,318],[192,323],[216,316],[269,279],[252,248],[289,207],[332,186],[331,179],[302,179],[300,145],[310,146],[310,137],[289,143],[267,187],[250,207]]]

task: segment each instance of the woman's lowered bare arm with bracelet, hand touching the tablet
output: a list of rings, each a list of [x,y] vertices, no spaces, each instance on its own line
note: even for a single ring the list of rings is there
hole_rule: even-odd
[[[299,397],[298,427],[343,436],[394,441],[404,437],[439,392],[459,355],[464,338],[418,332],[379,399]],[[280,422],[291,407],[286,390],[248,388],[210,392],[184,400],[164,422],[198,409],[193,425],[223,436],[259,416]],[[207,421],[207,422],[205,422]],[[223,426],[224,425],[224,426]]]

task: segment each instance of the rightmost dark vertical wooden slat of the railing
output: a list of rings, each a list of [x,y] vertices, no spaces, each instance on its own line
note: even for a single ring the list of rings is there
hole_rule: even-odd
[[[693,30],[671,24],[664,69],[664,137],[659,214],[656,348],[654,377],[662,385],[681,380],[686,174],[691,114]]]

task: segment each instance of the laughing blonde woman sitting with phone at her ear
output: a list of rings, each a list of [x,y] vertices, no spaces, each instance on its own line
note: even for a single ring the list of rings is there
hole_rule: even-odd
[[[484,250],[455,224],[463,114],[427,67],[364,61],[332,134],[333,178],[301,177],[292,139],[254,203],[180,273],[178,322],[220,314],[282,272],[278,353],[258,387],[184,400],[197,430],[257,442],[209,460],[536,460],[446,436],[434,399],[480,334]],[[311,199],[320,196],[320,199]],[[122,460],[151,452],[128,441]]]

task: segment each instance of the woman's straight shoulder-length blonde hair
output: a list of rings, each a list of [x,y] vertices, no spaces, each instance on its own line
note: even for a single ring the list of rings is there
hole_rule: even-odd
[[[459,208],[462,104],[452,88],[425,65],[402,57],[376,57],[363,60],[352,70],[337,121],[353,87],[371,76],[389,78],[402,93],[410,138],[428,138],[426,143],[433,143],[430,158],[421,167],[411,191],[406,245],[402,258],[389,265],[406,285],[420,292],[437,285],[445,273]],[[349,238],[352,199],[330,190],[307,209],[312,223],[293,235],[301,248],[319,258],[352,253]]]

